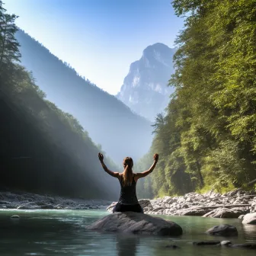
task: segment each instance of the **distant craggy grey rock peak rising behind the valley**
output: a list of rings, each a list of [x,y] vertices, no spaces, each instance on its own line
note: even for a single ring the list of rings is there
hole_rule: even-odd
[[[130,65],[117,98],[137,114],[154,120],[165,110],[174,91],[167,85],[174,72],[175,51],[163,43],[146,47],[142,57]]]

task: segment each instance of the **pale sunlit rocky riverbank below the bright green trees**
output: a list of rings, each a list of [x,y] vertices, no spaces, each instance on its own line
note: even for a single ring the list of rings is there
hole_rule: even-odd
[[[111,203],[107,210],[112,211],[116,203]],[[139,203],[147,214],[238,218],[256,212],[256,191],[232,191],[226,194],[193,192],[182,197],[142,199]]]

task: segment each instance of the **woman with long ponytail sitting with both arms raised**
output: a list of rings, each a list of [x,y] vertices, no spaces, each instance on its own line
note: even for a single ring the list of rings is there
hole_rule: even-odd
[[[154,163],[149,168],[148,171],[133,173],[133,159],[126,157],[123,159],[123,172],[110,171],[104,164],[104,156],[98,153],[98,158],[101,161],[101,165],[108,174],[114,178],[118,178],[121,186],[120,197],[116,206],[114,206],[114,212],[137,212],[143,213],[142,206],[140,206],[139,201],[136,197],[136,183],[139,178],[144,178],[149,175],[155,168],[158,162],[158,154],[154,155]]]

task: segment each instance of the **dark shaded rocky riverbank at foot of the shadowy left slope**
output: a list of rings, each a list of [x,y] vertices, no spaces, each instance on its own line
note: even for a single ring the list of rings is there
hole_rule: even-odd
[[[0,209],[18,210],[93,210],[105,209],[107,200],[82,200],[30,193],[0,192]]]

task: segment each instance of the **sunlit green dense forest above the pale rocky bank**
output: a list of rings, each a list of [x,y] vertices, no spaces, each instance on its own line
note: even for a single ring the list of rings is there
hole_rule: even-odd
[[[175,94],[155,119],[155,171],[142,197],[245,187],[256,178],[256,1],[174,0],[184,30],[176,41]],[[246,188],[246,187],[245,187]]]

